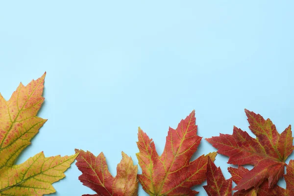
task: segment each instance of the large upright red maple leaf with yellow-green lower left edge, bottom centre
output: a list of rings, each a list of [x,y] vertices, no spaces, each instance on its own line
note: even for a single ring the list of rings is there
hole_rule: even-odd
[[[208,157],[214,161],[216,152],[190,162],[201,141],[195,123],[193,111],[176,129],[170,127],[161,156],[152,139],[139,127],[137,145],[140,152],[136,155],[142,174],[138,178],[150,196],[194,196],[198,193],[191,187],[205,181]]]

